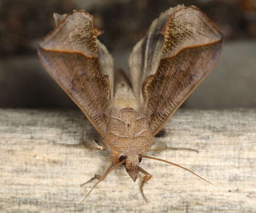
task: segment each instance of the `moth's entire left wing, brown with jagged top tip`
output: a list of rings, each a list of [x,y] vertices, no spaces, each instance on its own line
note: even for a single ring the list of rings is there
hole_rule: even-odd
[[[39,58],[49,74],[104,136],[113,96],[113,59],[85,11],[55,14],[56,28],[39,43]]]

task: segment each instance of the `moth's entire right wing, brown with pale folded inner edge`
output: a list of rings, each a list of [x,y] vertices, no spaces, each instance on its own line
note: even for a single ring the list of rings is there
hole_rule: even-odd
[[[213,68],[221,46],[219,30],[196,7],[178,5],[152,22],[129,58],[133,92],[152,135]]]

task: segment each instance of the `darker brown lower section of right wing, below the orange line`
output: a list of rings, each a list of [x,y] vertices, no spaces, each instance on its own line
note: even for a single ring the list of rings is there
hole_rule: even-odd
[[[143,91],[149,103],[154,134],[212,69],[220,45],[186,49],[177,57],[162,59],[156,75],[145,81]]]

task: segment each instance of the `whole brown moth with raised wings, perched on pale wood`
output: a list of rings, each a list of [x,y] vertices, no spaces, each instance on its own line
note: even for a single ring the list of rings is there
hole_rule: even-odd
[[[142,158],[179,165],[143,154],[165,147],[152,148],[152,138],[212,70],[222,46],[220,31],[196,7],[169,8],[134,47],[130,83],[123,72],[114,72],[92,15],[75,10],[54,17],[55,30],[39,43],[41,63],[81,108],[113,157],[107,172],[92,178],[98,179],[93,188],[123,164],[134,181],[139,172],[145,175],[140,192],[146,200],[142,187],[151,174],[139,166]],[[90,146],[103,149],[96,142]]]

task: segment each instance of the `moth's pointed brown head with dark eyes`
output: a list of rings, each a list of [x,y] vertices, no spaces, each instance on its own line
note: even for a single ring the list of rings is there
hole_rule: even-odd
[[[138,166],[142,161],[142,157],[139,155],[121,155],[119,157],[119,162],[126,160],[123,164],[126,169],[126,172],[130,175],[130,177],[135,182],[137,180],[137,176],[139,173]]]

